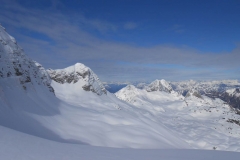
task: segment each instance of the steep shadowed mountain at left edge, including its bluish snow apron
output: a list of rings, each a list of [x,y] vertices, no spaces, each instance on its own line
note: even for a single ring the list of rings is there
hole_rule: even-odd
[[[32,116],[58,113],[51,79],[0,26],[0,125],[59,140]]]

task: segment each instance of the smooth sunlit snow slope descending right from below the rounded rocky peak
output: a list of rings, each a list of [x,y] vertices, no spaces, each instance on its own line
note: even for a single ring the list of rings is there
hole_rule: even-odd
[[[76,65],[85,67],[79,63]],[[64,70],[68,69],[63,69],[63,73],[66,72]],[[71,126],[64,121],[59,126],[64,125],[68,130],[67,133],[59,133],[65,139],[74,137],[95,146],[121,148],[190,147],[162,123],[156,123],[148,116],[144,116],[142,110],[120,101],[109,92],[99,95],[86,91],[83,87],[85,84],[85,79],[81,78],[75,83],[62,84],[54,79],[51,83],[57,98],[73,106],[71,109],[63,108],[61,112],[64,117],[71,120],[71,123],[74,122]],[[56,127],[55,132],[57,130]]]

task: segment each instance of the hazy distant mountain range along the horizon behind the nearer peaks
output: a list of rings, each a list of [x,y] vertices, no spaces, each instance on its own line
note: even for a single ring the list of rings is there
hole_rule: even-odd
[[[132,83],[139,89],[147,88],[156,85],[159,80],[153,81],[152,83]],[[165,80],[162,80],[165,81]],[[206,95],[210,98],[219,98],[224,102],[228,103],[233,108],[240,109],[240,83],[238,80],[221,80],[221,81],[182,81],[182,82],[167,82],[171,86],[172,90],[185,96],[188,91],[195,89],[200,95]],[[130,83],[129,83],[130,84]],[[105,83],[107,90],[112,93],[116,93],[120,89],[124,88],[127,84],[118,83]],[[110,86],[110,87],[108,87]],[[161,87],[161,86],[160,86]],[[114,89],[112,89],[114,88]],[[156,90],[155,88],[152,88]],[[148,88],[151,90],[151,88]],[[164,89],[163,89],[164,90]]]

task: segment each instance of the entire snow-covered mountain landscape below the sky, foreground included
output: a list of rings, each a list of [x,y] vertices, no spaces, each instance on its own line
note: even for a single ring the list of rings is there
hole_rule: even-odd
[[[106,85],[82,63],[45,69],[0,25],[0,157],[239,158],[238,81]]]

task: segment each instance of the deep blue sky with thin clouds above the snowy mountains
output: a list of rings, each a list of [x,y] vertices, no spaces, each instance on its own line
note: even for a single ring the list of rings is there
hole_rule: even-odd
[[[106,82],[240,80],[239,17],[239,0],[0,0],[29,57]]]

